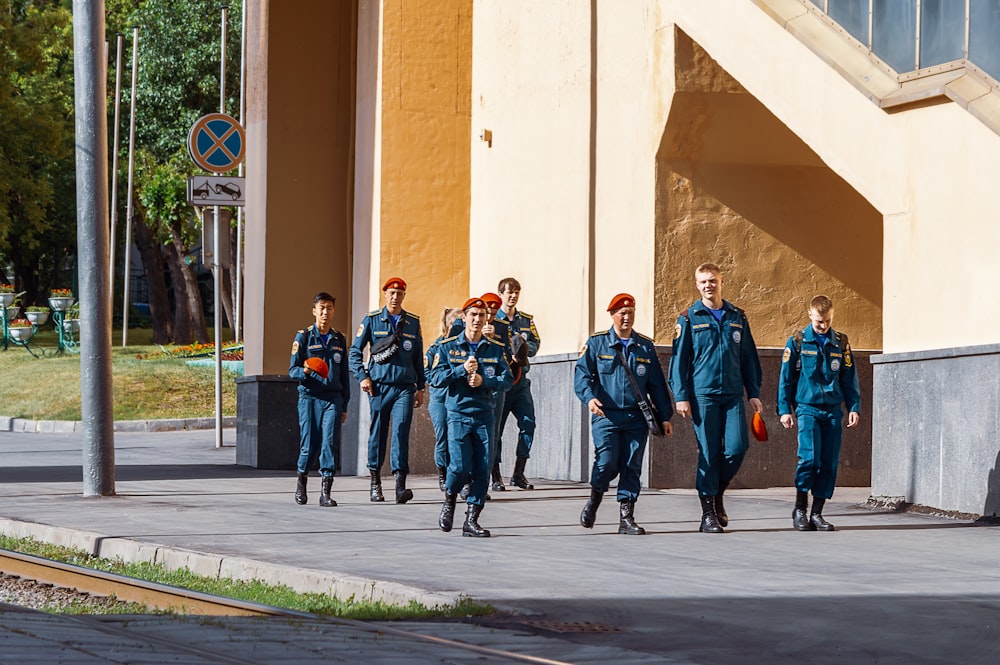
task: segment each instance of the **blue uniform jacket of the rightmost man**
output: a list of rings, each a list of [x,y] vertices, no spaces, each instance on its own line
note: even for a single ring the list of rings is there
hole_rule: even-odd
[[[778,379],[778,415],[795,413],[799,404],[818,408],[847,405],[848,411],[861,413],[861,388],[858,369],[847,335],[832,328],[822,347],[813,327],[807,326],[792,335],[781,356]]]

